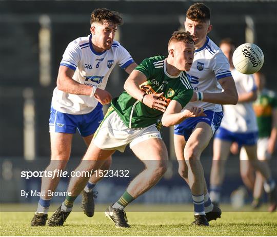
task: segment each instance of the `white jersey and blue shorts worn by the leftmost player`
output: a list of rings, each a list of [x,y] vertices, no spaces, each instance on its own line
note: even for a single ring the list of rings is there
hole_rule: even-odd
[[[122,69],[134,61],[120,43],[103,53],[93,50],[92,35],[72,41],[66,48],[60,65],[74,70],[73,80],[105,89],[108,77],[116,64]],[[102,105],[89,95],[69,94],[54,89],[49,119],[50,132],[93,134],[103,120]]]

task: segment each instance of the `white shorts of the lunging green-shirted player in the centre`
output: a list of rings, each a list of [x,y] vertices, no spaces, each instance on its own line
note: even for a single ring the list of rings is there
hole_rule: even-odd
[[[146,128],[128,128],[121,117],[115,112],[111,112],[104,118],[93,137],[93,143],[103,150],[118,150],[124,152],[126,146],[132,146],[148,139],[162,139],[160,131],[156,125]]]

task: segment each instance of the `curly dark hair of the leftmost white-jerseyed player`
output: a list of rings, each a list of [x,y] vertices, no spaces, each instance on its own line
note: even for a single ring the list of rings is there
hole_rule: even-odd
[[[116,25],[122,25],[123,19],[116,11],[110,11],[107,8],[95,9],[90,16],[90,25],[94,22],[103,23],[104,21],[112,22]]]

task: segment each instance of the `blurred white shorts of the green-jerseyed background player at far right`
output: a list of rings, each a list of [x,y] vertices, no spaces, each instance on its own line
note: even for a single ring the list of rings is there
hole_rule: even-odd
[[[269,142],[269,137],[263,137],[261,139],[258,139],[257,156],[258,156],[258,160],[260,160],[260,161],[270,160],[270,158],[271,158],[271,154],[269,154],[267,152],[268,142]],[[241,149],[240,159],[248,160],[248,156],[246,154],[244,147],[242,147],[242,149]]]

